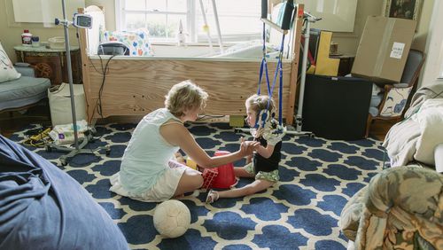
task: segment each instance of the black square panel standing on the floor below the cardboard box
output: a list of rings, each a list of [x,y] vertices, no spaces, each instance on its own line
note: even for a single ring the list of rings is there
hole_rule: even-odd
[[[327,139],[364,138],[371,93],[365,79],[307,74],[302,129]]]

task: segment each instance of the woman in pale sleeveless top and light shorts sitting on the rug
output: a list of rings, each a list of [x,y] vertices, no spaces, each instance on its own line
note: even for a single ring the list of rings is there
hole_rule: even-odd
[[[143,201],[163,201],[203,184],[201,173],[173,161],[182,149],[198,166],[215,168],[252,154],[242,139],[237,152],[209,157],[197,144],[185,121],[196,121],[206,105],[207,93],[190,81],[175,84],[167,93],[165,108],[144,116],[121,159],[120,172],[111,177],[110,191]]]

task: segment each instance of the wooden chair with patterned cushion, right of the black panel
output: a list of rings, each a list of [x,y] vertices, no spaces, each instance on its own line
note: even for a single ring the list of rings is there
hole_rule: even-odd
[[[369,113],[366,126],[366,137],[369,136],[370,125],[374,120],[385,120],[398,122],[403,116],[405,107],[409,105],[411,92],[416,89],[418,76],[424,64],[424,52],[410,50],[406,61],[405,69],[401,75],[399,83],[386,84],[384,95],[378,113],[373,116]]]

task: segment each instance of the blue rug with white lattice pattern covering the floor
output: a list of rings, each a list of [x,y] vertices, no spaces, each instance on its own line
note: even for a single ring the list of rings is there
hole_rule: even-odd
[[[78,155],[66,167],[58,162],[61,152],[27,146],[82,184],[135,249],[346,249],[347,240],[338,229],[340,212],[381,170],[384,160],[381,143],[373,139],[345,142],[285,136],[279,184],[252,196],[219,199],[213,204],[205,204],[206,192],[186,196],[182,201],[190,208],[190,229],[180,238],[162,238],[152,223],[158,203],[108,191],[109,177],[119,171],[135,127],[98,126],[100,138],[88,147],[110,145],[110,155]],[[235,151],[239,138],[248,137],[225,123],[193,124],[189,129],[210,155],[217,150]],[[23,142],[24,131],[12,135],[12,140]],[[235,166],[243,164],[238,161]],[[238,186],[251,182],[242,179]]]

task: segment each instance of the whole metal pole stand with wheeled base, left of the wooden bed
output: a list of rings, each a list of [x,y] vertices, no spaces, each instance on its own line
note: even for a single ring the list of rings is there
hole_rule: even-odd
[[[75,155],[79,153],[94,153],[100,149],[106,150],[106,155],[109,155],[110,148],[108,146],[105,147],[97,147],[95,150],[84,150],[82,149],[85,145],[89,143],[89,140],[92,139],[91,131],[88,131],[85,135],[85,137],[82,138],[82,144],[79,145],[79,137],[78,137],[78,128],[77,128],[77,116],[75,114],[75,100],[74,100],[74,81],[73,81],[73,70],[71,66],[71,50],[70,50],[70,44],[69,44],[69,31],[68,27],[70,25],[70,21],[66,20],[66,6],[65,6],[65,0],[61,1],[62,4],[62,10],[63,10],[63,20],[55,20],[55,24],[62,24],[65,29],[65,49],[66,49],[66,67],[67,67],[67,77],[69,81],[69,96],[71,99],[71,112],[73,116],[73,129],[74,129],[74,148],[68,148],[64,146],[59,145],[46,145],[46,151],[50,152],[52,148],[62,151],[62,152],[68,152],[66,155],[60,156],[58,160],[60,160],[61,165],[66,166],[67,160],[74,157]],[[89,129],[89,128],[88,128]]]

